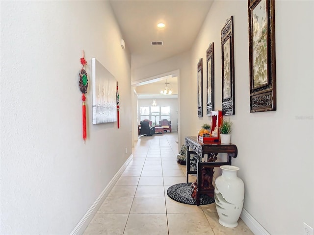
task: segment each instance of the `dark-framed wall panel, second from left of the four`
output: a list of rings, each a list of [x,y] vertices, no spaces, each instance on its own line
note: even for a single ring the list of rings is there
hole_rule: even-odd
[[[207,105],[206,116],[211,116],[211,111],[214,110],[214,43],[209,44],[206,51],[207,61]]]

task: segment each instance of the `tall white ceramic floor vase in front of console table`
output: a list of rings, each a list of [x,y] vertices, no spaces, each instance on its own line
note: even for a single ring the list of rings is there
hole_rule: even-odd
[[[222,165],[222,175],[215,180],[215,204],[219,223],[235,228],[244,202],[244,183],[237,177],[239,167]]]

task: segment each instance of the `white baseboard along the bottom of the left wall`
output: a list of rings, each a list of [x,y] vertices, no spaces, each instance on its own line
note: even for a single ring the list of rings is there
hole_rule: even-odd
[[[102,191],[102,193],[98,196],[96,201],[93,203],[93,205],[89,208],[89,210],[84,214],[84,216],[81,218],[81,220],[78,222],[77,226],[73,229],[70,235],[82,235],[89,225],[90,221],[100,208],[100,206],[103,204],[106,196],[109,194],[110,190],[113,188],[113,186],[116,184],[120,176],[122,175],[125,168],[128,166],[128,164],[131,162],[133,158],[133,154],[130,155],[128,160],[120,167],[118,172],[113,176],[113,178],[110,180],[108,185],[105,187],[105,189]]]

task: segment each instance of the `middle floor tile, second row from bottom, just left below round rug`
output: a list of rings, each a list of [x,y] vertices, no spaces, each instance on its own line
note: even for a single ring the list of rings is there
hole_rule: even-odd
[[[131,214],[165,214],[164,197],[134,197]]]

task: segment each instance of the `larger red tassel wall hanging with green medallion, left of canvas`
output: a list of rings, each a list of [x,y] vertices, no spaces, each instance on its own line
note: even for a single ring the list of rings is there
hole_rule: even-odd
[[[87,78],[87,72],[85,71],[85,65],[87,65],[87,61],[84,58],[84,50],[83,50],[83,57],[80,58],[80,63],[82,64],[82,69],[79,73],[79,90],[82,93],[82,121],[83,121],[83,140],[86,141],[87,137],[87,131],[86,131],[86,97],[85,94],[87,93],[87,87],[88,87],[88,78]]]

